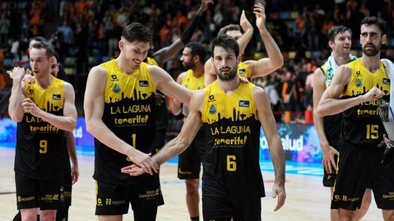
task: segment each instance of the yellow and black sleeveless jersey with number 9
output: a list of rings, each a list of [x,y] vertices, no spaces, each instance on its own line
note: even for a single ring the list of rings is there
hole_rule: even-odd
[[[53,77],[51,84],[43,89],[35,81],[27,82],[26,98],[30,98],[43,111],[63,116],[63,83]],[[15,173],[34,179],[60,177],[64,163],[63,135],[63,130],[42,118],[24,113],[23,120],[17,124]]]

